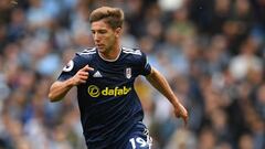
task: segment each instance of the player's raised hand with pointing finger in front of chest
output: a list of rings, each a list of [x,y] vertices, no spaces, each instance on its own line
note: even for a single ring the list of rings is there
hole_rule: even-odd
[[[89,76],[88,71],[94,71],[93,67],[89,67],[88,65],[81,68],[73,77],[72,77],[72,85],[76,86],[80,84],[86,83],[86,79]]]

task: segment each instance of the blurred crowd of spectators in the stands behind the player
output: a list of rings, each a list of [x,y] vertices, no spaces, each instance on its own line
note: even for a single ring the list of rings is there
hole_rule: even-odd
[[[62,67],[93,46],[89,12],[119,7],[121,43],[140,47],[190,113],[144,77],[152,149],[265,149],[265,0],[0,0],[0,149],[84,149],[76,91],[50,103]]]

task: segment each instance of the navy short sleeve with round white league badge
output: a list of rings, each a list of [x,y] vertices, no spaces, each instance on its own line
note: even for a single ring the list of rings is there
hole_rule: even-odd
[[[64,67],[62,73],[60,74],[57,81],[66,81],[74,76],[82,67],[87,64],[84,57],[80,54],[75,54],[74,58],[72,58]]]

